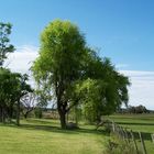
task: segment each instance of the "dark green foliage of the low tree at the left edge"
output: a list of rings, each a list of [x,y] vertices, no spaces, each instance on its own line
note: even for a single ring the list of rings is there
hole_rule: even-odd
[[[16,103],[21,97],[32,91],[25,81],[26,75],[11,73],[9,69],[0,68],[0,121],[11,119]]]

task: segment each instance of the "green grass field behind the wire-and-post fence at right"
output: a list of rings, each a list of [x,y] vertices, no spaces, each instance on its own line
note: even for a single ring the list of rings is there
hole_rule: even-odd
[[[154,133],[154,114],[116,114],[109,118],[123,128],[135,132],[136,138],[138,133],[142,132],[147,154],[154,154],[154,143],[151,140],[151,133]],[[141,145],[139,141],[138,145]]]

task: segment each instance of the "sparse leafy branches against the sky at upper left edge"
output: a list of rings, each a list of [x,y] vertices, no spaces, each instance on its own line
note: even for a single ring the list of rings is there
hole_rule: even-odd
[[[8,53],[14,51],[14,46],[10,44],[9,35],[11,34],[12,25],[10,23],[0,22],[0,66],[3,65]]]

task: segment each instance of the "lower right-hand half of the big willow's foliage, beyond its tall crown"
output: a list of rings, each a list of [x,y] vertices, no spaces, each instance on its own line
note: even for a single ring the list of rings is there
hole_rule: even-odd
[[[76,84],[73,102],[81,103],[87,120],[100,122],[101,116],[114,112],[123,102],[128,105],[130,82],[116,72],[108,58],[101,59],[92,50],[87,50],[90,56],[86,61],[85,79]]]

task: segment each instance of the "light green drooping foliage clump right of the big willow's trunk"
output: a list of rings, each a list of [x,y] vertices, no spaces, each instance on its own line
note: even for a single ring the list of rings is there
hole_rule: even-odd
[[[101,102],[105,98],[106,82],[88,78],[78,85],[82,112],[87,120],[96,121],[105,110],[106,103]],[[79,96],[78,96],[79,97]],[[106,107],[107,108],[107,107]]]

